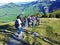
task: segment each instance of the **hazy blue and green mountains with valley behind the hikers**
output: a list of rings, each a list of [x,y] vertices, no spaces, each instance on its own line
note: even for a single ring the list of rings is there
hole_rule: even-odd
[[[18,2],[18,3],[7,3],[0,6],[0,19],[8,19],[8,17],[13,18],[17,15],[22,17],[28,15],[35,15],[36,13],[44,14],[44,7],[49,7],[49,12],[52,12],[54,9],[60,8],[60,1],[43,1],[43,2]],[[15,17],[13,19],[15,19]],[[10,19],[10,18],[9,18]]]

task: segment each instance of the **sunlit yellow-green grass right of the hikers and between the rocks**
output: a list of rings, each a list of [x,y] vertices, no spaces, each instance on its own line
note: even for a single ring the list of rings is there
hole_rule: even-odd
[[[13,24],[14,24],[14,22],[8,23],[9,27],[12,27]],[[33,31],[33,32],[38,32],[40,34],[40,36],[48,37],[52,40],[60,42],[60,18],[59,19],[58,18],[41,18],[39,26],[36,26],[34,28],[29,27],[28,30]],[[28,37],[29,37],[28,38],[29,42],[32,43],[33,39],[31,38],[30,35]],[[25,40],[27,40],[27,39],[25,39]],[[37,40],[42,45],[50,45],[41,39],[37,38]],[[58,45],[58,44],[54,44],[54,45]]]

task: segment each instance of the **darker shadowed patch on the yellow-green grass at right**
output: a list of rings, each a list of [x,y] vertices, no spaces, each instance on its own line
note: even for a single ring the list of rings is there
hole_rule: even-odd
[[[48,40],[50,40],[53,43],[60,44],[60,42],[54,40],[54,37],[56,37],[56,35],[53,33],[53,28],[51,26],[46,27],[46,33],[48,36]]]

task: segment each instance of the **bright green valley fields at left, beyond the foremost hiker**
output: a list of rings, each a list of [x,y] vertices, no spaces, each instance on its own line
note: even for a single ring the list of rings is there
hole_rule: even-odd
[[[12,21],[18,14],[20,14],[20,12],[18,7],[2,8],[0,9],[0,21]]]

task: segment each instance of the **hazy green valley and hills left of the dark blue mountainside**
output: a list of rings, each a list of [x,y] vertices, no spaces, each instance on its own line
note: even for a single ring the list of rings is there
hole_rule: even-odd
[[[28,4],[15,4],[8,3],[3,6],[0,6],[0,21],[13,21],[17,15],[21,17],[34,15],[39,12],[40,3],[28,3]],[[41,14],[43,14],[41,12]]]

